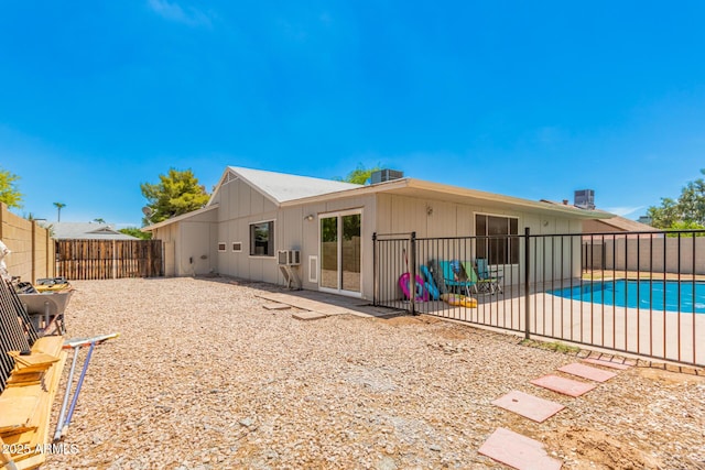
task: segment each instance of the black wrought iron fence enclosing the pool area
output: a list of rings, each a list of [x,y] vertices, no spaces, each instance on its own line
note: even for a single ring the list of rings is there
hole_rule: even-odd
[[[705,231],[373,237],[376,305],[705,365]]]

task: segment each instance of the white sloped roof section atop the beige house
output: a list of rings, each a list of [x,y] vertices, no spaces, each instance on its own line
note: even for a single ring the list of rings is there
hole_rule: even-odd
[[[334,179],[288,175],[240,166],[228,166],[228,170],[278,204],[361,187],[361,185]],[[226,173],[224,178],[227,176]]]

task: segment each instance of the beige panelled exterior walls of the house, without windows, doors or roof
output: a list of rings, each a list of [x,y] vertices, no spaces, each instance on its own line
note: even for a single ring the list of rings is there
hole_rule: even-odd
[[[519,234],[529,227],[532,234],[577,234],[583,223],[578,219],[556,216],[550,211],[522,211],[509,206],[491,204],[459,204],[442,199],[399,196],[388,193],[356,197],[339,197],[308,204],[278,207],[254,187],[240,178],[220,185],[212,204],[218,208],[155,230],[155,238],[164,241],[167,275],[203,275],[219,273],[251,281],[284,285],[279,270],[278,250],[300,250],[301,265],[296,269],[306,289],[318,289],[321,277],[319,225],[323,216],[360,211],[362,298],[373,296],[372,234],[416,232],[416,237],[474,237],[475,215],[487,214],[518,219]],[[313,220],[306,220],[307,216]],[[274,222],[273,256],[250,255],[250,226]],[[225,250],[219,249],[219,244]],[[239,244],[239,250],[236,245]],[[523,244],[520,243],[520,247]],[[538,243],[538,260],[547,260],[535,270],[536,276],[579,275],[581,243]],[[544,258],[544,251],[549,253]],[[172,254],[173,253],[173,254]],[[523,252],[520,254],[523,260]],[[170,261],[171,260],[171,261]],[[401,258],[400,258],[401,260]],[[419,260],[426,262],[427,260]],[[403,272],[404,266],[399,266]],[[506,280],[518,283],[519,264],[506,265]],[[534,271],[531,273],[534,276]]]

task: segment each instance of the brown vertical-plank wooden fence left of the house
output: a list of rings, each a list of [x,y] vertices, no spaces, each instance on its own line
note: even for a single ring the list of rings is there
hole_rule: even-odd
[[[164,275],[161,240],[57,240],[56,275],[69,281]]]

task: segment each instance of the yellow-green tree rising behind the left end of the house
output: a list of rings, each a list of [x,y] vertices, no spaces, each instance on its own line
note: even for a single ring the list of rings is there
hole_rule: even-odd
[[[142,195],[147,198],[150,217],[142,218],[143,225],[158,223],[192,210],[200,209],[208,203],[206,188],[198,184],[191,170],[169,170],[159,175],[158,184],[142,183]]]

